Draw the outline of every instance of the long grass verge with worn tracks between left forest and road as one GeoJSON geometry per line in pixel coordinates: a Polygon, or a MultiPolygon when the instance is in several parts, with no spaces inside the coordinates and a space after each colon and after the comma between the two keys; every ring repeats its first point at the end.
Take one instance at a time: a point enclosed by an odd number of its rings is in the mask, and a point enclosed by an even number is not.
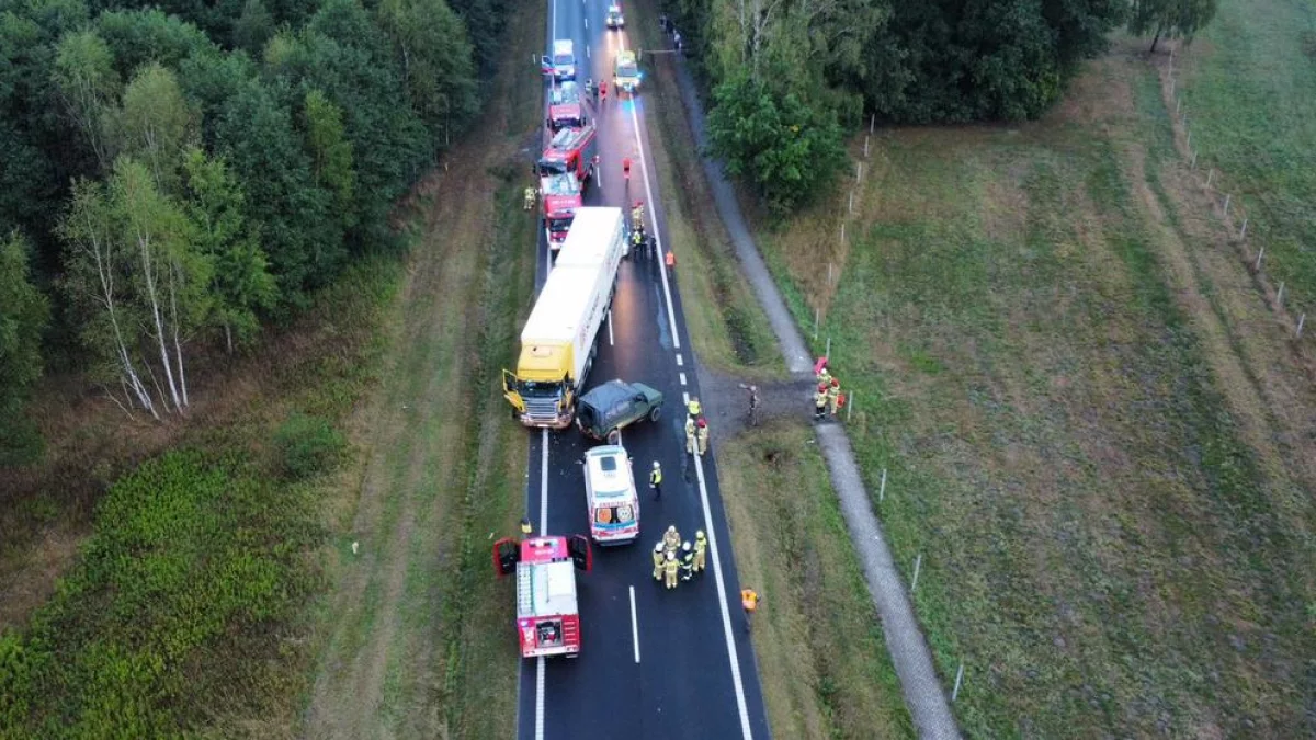
{"type": "MultiPolygon", "coordinates": [[[[537,45],[544,8],[508,43],[537,45]]],[[[517,55],[509,55],[519,58],[517,55]]],[[[508,63],[487,125],[413,194],[412,259],[388,327],[390,362],[353,421],[365,448],[332,524],[318,665],[303,732],[316,737],[511,737],[519,658],[512,585],[490,569],[494,533],[522,508],[525,431],[508,421],[501,367],[534,282],[534,216],[519,176],[537,141],[537,70],[508,63]]]]}

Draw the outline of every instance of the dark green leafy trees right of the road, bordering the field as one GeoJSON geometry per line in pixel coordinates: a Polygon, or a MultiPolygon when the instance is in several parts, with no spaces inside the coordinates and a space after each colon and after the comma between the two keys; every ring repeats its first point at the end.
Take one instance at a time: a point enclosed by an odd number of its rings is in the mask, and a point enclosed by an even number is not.
{"type": "Polygon", "coordinates": [[[1190,37],[1216,0],[665,0],[713,91],[729,170],[788,209],[844,161],[842,126],[1032,119],[1111,30],[1190,37]]]}

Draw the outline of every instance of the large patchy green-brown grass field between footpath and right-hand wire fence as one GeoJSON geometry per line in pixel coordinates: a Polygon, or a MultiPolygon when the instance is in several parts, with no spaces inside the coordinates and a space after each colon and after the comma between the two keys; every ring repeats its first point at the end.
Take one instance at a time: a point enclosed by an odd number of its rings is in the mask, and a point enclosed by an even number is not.
{"type": "Polygon", "coordinates": [[[824,312],[965,731],[1311,733],[1316,398],[1141,50],[1041,122],[874,145],[848,245],[830,204],[759,244],[799,323],[824,312]]]}

